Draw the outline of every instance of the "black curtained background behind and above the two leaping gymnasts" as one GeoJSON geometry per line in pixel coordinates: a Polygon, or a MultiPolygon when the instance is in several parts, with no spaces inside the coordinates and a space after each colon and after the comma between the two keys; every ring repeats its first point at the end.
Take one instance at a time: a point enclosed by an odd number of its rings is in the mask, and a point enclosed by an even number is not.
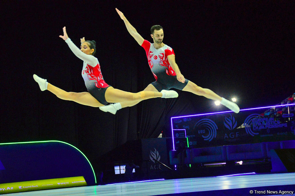
{"type": "Polygon", "coordinates": [[[177,99],[145,100],[116,115],[40,91],[36,73],[66,91],[83,92],[83,62],[58,36],[67,27],[97,42],[105,81],[138,92],[154,81],[145,51],[115,8],[152,42],[160,24],[164,43],[185,76],[241,109],[276,105],[294,90],[294,1],[1,1],[0,143],[60,140],[94,165],[128,140],[170,137],[172,116],[228,110],[178,91],[177,99]]]}

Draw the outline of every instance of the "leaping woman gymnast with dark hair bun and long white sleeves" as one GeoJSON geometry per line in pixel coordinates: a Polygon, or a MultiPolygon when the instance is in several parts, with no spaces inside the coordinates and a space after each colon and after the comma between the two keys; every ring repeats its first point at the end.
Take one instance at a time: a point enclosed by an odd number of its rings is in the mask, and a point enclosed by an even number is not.
{"type": "MultiPolygon", "coordinates": [[[[121,91],[108,85],[102,77],[99,61],[93,55],[96,52],[95,41],[85,41],[81,38],[81,49],[79,49],[68,37],[68,34],[63,27],[63,36],[59,36],[68,44],[71,51],[81,60],[83,60],[82,77],[88,92],[66,92],[52,84],[46,79],[33,75],[34,80],[39,84],[41,91],[48,90],[63,100],[71,100],[82,105],[92,107],[101,107],[108,103],[117,103],[124,101],[142,101],[150,98],[176,98],[176,91],[162,90],[161,92],[140,91],[138,93],[130,93],[121,91]]],[[[121,108],[118,108],[121,109],[121,108]]]]}

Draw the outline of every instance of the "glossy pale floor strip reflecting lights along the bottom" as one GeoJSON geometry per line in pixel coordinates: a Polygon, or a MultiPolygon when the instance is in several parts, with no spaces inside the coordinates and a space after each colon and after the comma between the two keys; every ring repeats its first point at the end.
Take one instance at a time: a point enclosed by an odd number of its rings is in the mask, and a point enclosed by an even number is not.
{"type": "Polygon", "coordinates": [[[199,177],[116,185],[72,187],[7,195],[161,195],[276,185],[295,185],[295,173],[199,177]]]}

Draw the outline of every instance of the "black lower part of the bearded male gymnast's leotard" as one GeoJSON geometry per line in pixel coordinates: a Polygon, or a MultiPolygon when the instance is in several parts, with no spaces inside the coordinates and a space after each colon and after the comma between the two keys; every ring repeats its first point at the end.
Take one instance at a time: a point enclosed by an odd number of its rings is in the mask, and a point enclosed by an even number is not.
{"type": "Polygon", "coordinates": [[[182,83],[177,80],[176,76],[167,75],[165,78],[158,78],[158,80],[152,82],[151,84],[160,92],[162,90],[169,90],[171,88],[182,90],[188,82],[188,79],[185,79],[185,83],[182,83]]]}

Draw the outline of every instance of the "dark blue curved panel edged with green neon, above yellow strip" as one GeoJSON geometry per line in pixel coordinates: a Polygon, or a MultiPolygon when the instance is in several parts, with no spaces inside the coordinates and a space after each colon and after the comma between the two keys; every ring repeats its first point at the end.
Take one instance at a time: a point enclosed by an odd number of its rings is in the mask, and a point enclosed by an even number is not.
{"type": "Polygon", "coordinates": [[[92,165],[76,147],[61,141],[0,143],[0,184],[83,176],[96,184],[92,165]]]}

